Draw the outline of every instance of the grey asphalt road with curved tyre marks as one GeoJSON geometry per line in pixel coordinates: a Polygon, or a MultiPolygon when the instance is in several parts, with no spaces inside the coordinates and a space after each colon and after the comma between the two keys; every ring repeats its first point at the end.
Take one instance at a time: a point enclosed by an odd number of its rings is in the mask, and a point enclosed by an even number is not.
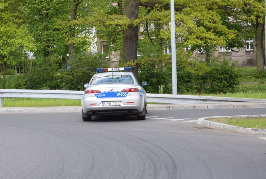
{"type": "Polygon", "coordinates": [[[197,125],[260,109],[148,111],[135,117],[0,113],[0,178],[266,178],[266,136],[197,125]]]}

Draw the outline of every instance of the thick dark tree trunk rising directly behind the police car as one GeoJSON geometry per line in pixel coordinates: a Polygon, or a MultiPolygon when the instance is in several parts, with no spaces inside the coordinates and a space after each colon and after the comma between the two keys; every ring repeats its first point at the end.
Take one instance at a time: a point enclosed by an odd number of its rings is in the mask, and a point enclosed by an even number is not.
{"type": "MultiPolygon", "coordinates": [[[[140,0],[125,0],[124,13],[126,17],[135,20],[139,15],[140,0]]],[[[123,60],[124,62],[135,62],[137,60],[137,46],[138,46],[138,25],[129,25],[123,31],[123,60]]],[[[132,68],[132,72],[138,77],[138,64],[132,68]]]]}

